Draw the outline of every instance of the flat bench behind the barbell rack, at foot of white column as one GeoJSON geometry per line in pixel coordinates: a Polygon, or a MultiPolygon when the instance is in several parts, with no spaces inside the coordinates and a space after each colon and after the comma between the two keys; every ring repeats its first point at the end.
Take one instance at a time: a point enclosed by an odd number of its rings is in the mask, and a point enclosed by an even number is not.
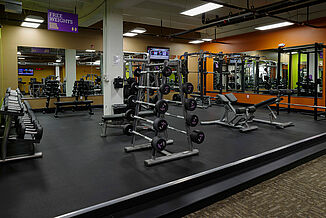
{"type": "MultiPolygon", "coordinates": [[[[139,112],[140,116],[152,116],[154,115],[153,111],[140,111],[139,112]]],[[[126,114],[125,113],[120,113],[120,114],[112,114],[112,115],[103,115],[102,116],[102,122],[100,125],[102,126],[101,130],[101,136],[105,137],[107,136],[106,130],[107,128],[119,128],[123,129],[125,126],[126,121],[126,114]]],[[[140,129],[145,129],[145,126],[140,126],[140,129]]],[[[149,129],[149,127],[146,127],[146,129],[149,129]]]]}

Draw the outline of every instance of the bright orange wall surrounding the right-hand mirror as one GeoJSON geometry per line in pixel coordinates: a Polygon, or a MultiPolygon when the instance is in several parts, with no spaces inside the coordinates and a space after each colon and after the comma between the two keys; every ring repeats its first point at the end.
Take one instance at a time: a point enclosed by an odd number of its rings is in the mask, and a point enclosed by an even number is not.
{"type": "MultiPolygon", "coordinates": [[[[318,19],[311,24],[322,26],[326,25],[326,18],[318,19]]],[[[291,26],[288,28],[282,28],[269,31],[255,31],[251,33],[241,34],[237,36],[231,36],[226,38],[217,39],[217,41],[224,42],[226,44],[219,43],[204,43],[201,45],[203,51],[209,52],[246,52],[265,49],[275,49],[280,43],[285,43],[286,47],[307,45],[318,43],[326,43],[326,28],[311,28],[306,26],[291,26]]],[[[324,50],[325,53],[325,50],[324,50]]],[[[324,55],[324,72],[325,71],[325,55],[324,55]]],[[[213,64],[211,60],[207,62],[207,70],[212,71],[213,64]]],[[[326,77],[323,78],[323,84],[326,85],[326,77]]],[[[318,105],[325,105],[325,85],[323,87],[323,98],[319,99],[318,105]]],[[[213,77],[207,76],[207,90],[213,90],[213,77]]],[[[214,96],[215,94],[209,94],[214,96]]],[[[256,95],[256,94],[240,94],[237,93],[240,103],[252,103],[256,104],[260,101],[270,98],[269,95],[256,95]],[[244,96],[249,95],[249,99],[244,96]]],[[[291,98],[292,103],[313,105],[312,98],[298,97],[291,98]]],[[[287,100],[286,100],[287,101],[287,100]]],[[[308,108],[303,108],[308,109],[308,108]]]]}

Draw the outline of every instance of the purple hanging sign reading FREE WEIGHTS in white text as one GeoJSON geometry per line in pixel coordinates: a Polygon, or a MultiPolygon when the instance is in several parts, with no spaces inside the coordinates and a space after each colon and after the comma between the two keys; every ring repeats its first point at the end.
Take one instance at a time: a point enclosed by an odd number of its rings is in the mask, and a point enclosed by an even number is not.
{"type": "Polygon", "coordinates": [[[78,33],[78,15],[48,10],[48,30],[78,33]]]}

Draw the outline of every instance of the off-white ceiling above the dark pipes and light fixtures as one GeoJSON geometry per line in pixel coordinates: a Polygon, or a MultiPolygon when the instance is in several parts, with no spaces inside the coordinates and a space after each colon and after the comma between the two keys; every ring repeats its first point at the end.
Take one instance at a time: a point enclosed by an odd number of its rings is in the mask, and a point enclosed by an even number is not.
{"type": "MultiPolygon", "coordinates": [[[[202,26],[201,15],[188,17],[180,12],[205,4],[200,0],[116,0],[119,7],[123,9],[124,21],[143,23],[150,25],[161,25],[176,29],[192,29],[202,26]]],[[[249,0],[250,5],[259,7],[280,0],[249,0]]],[[[223,0],[225,3],[247,7],[247,0],[223,0]]],[[[79,15],[80,26],[90,26],[102,20],[104,1],[103,0],[23,0],[23,8],[46,12],[48,8],[53,10],[74,12],[79,15]]],[[[239,12],[236,9],[227,7],[219,8],[207,13],[208,18],[216,15],[222,17],[229,13],[239,12]]],[[[325,3],[310,7],[310,19],[325,17],[325,3]]],[[[306,20],[306,9],[300,9],[285,14],[282,17],[291,18],[296,21],[306,20]]],[[[275,23],[275,18],[260,18],[253,21],[217,28],[217,38],[255,31],[254,27],[275,23]]],[[[201,31],[203,35],[214,37],[214,28],[201,31]]]]}

